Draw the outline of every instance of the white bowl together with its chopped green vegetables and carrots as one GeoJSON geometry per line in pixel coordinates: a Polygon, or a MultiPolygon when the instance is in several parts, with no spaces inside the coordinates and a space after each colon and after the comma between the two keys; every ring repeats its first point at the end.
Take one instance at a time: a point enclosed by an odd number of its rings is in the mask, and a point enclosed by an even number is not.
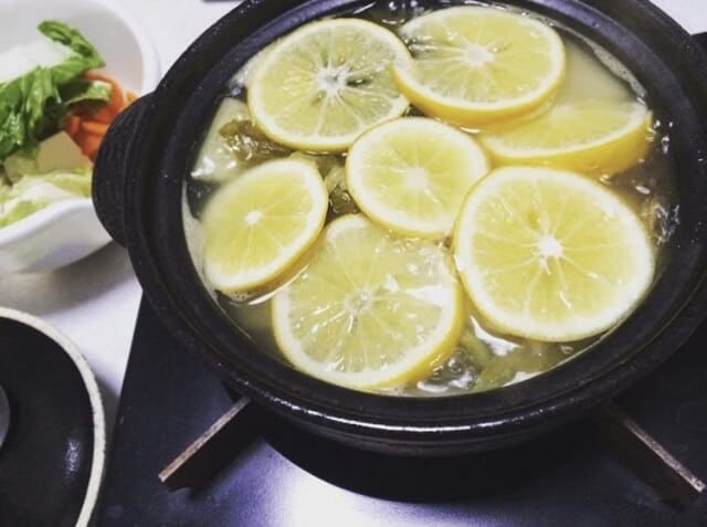
{"type": "Polygon", "coordinates": [[[113,8],[48,14],[0,39],[0,273],[51,271],[110,241],[93,161],[113,119],[158,80],[154,51],[113,8]]]}

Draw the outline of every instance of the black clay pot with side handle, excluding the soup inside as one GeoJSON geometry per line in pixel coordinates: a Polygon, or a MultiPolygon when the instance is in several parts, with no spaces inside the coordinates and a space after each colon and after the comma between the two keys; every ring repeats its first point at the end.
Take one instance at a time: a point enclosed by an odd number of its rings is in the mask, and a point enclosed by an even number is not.
{"type": "MultiPolygon", "coordinates": [[[[203,130],[228,80],[265,44],[306,21],[365,0],[251,0],[209,29],[158,88],[110,127],[94,198],[124,243],[168,329],[232,388],[294,423],[356,447],[405,455],[496,449],[582,415],[657,367],[707,305],[707,56],[646,0],[508,0],[610,50],[669,116],[680,224],[648,297],[591,350],[535,379],[449,398],[359,393],[302,375],[254,349],[202,286],[189,256],[181,200],[203,130]]],[[[434,4],[435,2],[430,2],[434,4]]]]}

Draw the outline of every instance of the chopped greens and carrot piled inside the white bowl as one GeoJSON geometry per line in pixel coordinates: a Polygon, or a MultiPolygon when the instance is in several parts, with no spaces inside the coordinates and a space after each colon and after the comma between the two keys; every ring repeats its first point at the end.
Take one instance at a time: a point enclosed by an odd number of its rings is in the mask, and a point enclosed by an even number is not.
{"type": "Polygon", "coordinates": [[[126,98],[75,29],[39,25],[44,39],[0,55],[0,228],[73,197],[91,196],[92,159],[126,98]]]}

